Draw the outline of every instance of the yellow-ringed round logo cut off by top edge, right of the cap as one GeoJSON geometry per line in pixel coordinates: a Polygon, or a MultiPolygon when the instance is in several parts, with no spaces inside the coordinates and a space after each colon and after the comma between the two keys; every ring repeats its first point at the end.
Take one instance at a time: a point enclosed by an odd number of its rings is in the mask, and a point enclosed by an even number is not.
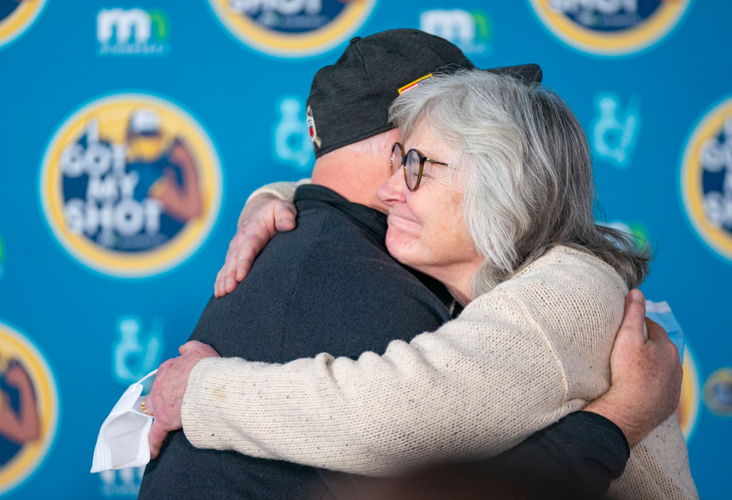
{"type": "Polygon", "coordinates": [[[665,37],[690,0],[531,0],[539,19],[574,48],[600,56],[638,52],[665,37]]]}

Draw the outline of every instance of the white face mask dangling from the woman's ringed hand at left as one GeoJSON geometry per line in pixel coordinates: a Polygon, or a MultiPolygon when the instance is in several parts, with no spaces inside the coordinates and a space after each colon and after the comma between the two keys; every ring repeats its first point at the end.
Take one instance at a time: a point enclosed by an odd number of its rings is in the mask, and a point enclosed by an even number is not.
{"type": "Polygon", "coordinates": [[[152,427],[152,417],[142,411],[141,403],[146,396],[141,394],[142,382],[156,373],[157,370],[151,371],[127,387],[102,423],[91,461],[92,472],[138,467],[150,461],[147,435],[152,427]]]}

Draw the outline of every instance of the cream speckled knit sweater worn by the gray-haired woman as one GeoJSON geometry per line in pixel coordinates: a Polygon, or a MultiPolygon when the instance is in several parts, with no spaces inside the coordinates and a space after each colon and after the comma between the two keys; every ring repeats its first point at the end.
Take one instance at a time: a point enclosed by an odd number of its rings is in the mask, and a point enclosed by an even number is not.
{"type": "MultiPolygon", "coordinates": [[[[384,355],[201,360],[184,432],[196,447],[375,476],[496,455],[608,390],[626,294],[605,262],[557,247],[384,355]]],[[[632,449],[610,496],[698,498],[675,415],[632,449]]]]}

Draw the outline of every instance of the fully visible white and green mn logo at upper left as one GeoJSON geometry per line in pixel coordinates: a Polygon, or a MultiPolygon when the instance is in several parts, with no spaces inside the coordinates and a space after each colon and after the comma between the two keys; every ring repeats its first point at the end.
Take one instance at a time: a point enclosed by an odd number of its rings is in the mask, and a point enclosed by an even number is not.
{"type": "Polygon", "coordinates": [[[168,23],[159,11],[102,9],[97,14],[100,54],[156,54],[167,48],[168,23]]]}

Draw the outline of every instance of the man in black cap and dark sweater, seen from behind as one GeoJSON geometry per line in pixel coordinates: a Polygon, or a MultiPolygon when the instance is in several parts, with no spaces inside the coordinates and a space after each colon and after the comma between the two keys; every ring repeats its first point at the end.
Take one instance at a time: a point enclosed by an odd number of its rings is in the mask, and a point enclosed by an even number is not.
{"type": "MultiPolygon", "coordinates": [[[[209,300],[192,340],[224,357],[266,363],[320,352],[355,358],[384,352],[389,341],[409,341],[450,319],[447,290],[387,254],[386,216],[376,189],[389,175],[390,146],[397,140],[387,117],[392,100],[432,72],[459,67],[473,66],[444,39],[390,30],[351,40],[334,65],[318,71],[307,101],[316,162],[313,183],[294,196],[296,230],[275,235],[242,284],[209,300]]],[[[529,81],[541,77],[535,65],[493,71],[529,81]]],[[[186,379],[187,374],[183,384],[186,379]]],[[[162,390],[156,382],[153,392],[162,390]]],[[[149,401],[160,400],[151,395],[149,401]]],[[[155,413],[156,406],[148,408],[155,413]]],[[[160,422],[151,436],[167,430],[160,422]]],[[[616,425],[581,412],[506,456],[510,464],[529,460],[552,472],[563,470],[577,485],[596,482],[591,488],[602,492],[621,473],[628,448],[616,425]]],[[[197,449],[174,431],[147,467],[140,497],[354,498],[349,484],[354,483],[322,469],[197,449]]]]}

